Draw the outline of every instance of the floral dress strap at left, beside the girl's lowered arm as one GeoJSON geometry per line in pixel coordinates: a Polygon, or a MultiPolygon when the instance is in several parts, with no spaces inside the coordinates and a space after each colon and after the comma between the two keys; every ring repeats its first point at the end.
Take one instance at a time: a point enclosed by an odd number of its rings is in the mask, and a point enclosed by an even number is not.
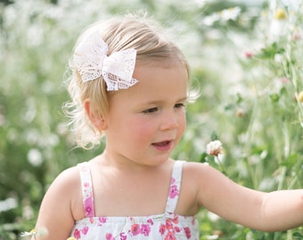
{"type": "Polygon", "coordinates": [[[83,205],[86,218],[92,218],[94,217],[94,191],[89,165],[85,162],[78,164],[77,166],[80,172],[83,205]]]}

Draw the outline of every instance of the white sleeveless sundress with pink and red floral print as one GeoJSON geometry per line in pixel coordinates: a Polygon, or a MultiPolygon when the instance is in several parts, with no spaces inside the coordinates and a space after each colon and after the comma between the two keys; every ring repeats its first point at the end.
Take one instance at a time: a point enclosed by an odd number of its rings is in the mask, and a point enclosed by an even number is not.
{"type": "Polygon", "coordinates": [[[70,236],[86,240],[199,239],[194,216],[175,213],[184,161],[176,161],[171,176],[164,213],[137,217],[98,217],[94,215],[94,193],[87,163],[78,164],[86,217],[77,220],[70,236]]]}

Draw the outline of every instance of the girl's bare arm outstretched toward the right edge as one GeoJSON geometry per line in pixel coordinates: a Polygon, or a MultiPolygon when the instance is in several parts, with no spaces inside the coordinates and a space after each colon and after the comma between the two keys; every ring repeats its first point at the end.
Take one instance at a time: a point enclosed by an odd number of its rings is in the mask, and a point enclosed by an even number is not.
{"type": "Polygon", "coordinates": [[[262,231],[303,225],[303,189],[259,192],[234,183],[206,164],[190,164],[189,172],[198,184],[198,203],[225,220],[262,231]]]}

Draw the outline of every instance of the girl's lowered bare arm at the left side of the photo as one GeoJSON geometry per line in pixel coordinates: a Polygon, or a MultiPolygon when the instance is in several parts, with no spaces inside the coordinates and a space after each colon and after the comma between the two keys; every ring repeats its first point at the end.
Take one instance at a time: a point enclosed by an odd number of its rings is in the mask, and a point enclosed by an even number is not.
{"type": "MultiPolygon", "coordinates": [[[[72,207],[78,205],[80,180],[76,168],[71,168],[53,181],[42,201],[36,230],[45,228],[47,235],[37,235],[35,240],[66,240],[75,224],[72,207]]],[[[81,205],[81,204],[80,204],[81,205]]]]}

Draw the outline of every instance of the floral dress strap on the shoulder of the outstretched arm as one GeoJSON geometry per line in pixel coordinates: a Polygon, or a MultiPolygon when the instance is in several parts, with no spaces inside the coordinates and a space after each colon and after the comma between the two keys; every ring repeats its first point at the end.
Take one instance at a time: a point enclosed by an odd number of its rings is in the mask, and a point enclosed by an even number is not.
{"type": "Polygon", "coordinates": [[[184,161],[176,161],[174,164],[168,192],[168,201],[165,209],[165,214],[169,218],[173,218],[175,215],[176,204],[178,202],[181,187],[183,164],[184,161]]]}

